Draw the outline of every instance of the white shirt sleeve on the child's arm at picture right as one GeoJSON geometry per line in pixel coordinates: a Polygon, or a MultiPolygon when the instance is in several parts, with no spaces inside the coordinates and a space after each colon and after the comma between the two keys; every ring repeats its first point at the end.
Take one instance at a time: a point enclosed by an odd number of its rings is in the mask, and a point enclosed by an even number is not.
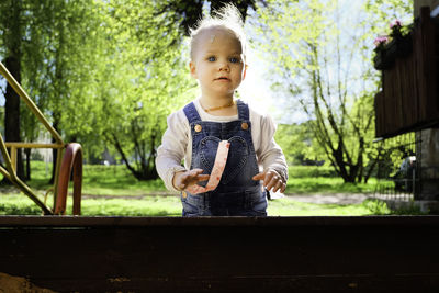
{"type": "Polygon", "coordinates": [[[277,126],[270,115],[261,117],[260,127],[260,154],[258,156],[259,164],[263,170],[273,169],[277,171],[284,182],[288,180],[288,165],[282,148],[274,140],[277,126]]]}

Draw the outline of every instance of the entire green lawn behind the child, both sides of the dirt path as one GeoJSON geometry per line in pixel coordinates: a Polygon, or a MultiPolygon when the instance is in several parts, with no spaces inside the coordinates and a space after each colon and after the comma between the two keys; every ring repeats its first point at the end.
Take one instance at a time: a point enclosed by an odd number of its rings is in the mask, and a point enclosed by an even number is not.
{"type": "MultiPolygon", "coordinates": [[[[32,180],[29,182],[44,200],[49,188],[48,171],[44,162],[32,164],[32,180]]],[[[286,193],[371,193],[374,181],[369,184],[344,184],[334,178],[329,168],[293,167],[286,193]]],[[[137,181],[124,166],[90,166],[83,168],[82,215],[125,215],[125,216],[179,216],[181,203],[178,195],[166,191],[161,180],[137,181]]],[[[1,215],[38,215],[40,209],[15,189],[2,189],[0,196],[1,215]]],[[[53,198],[46,199],[47,203],[53,198]]],[[[71,196],[67,213],[71,213],[71,196]]],[[[329,216],[329,215],[374,215],[390,214],[391,211],[380,201],[368,200],[361,204],[314,204],[297,202],[289,196],[269,202],[271,216],[329,216]]]]}

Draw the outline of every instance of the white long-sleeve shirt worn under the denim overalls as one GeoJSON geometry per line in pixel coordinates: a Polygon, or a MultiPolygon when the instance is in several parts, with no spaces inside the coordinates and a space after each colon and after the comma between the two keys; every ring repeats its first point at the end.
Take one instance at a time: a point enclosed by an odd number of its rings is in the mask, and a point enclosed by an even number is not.
{"type": "MultiPolygon", "coordinates": [[[[238,120],[238,115],[215,116],[206,113],[200,105],[200,99],[193,101],[202,121],[230,122],[238,120]]],[[[286,182],[288,166],[282,149],[274,142],[275,124],[270,115],[256,112],[249,106],[251,123],[251,138],[259,166],[275,170],[286,182]]],[[[157,149],[157,172],[170,191],[177,191],[172,184],[173,174],[181,170],[189,170],[192,159],[192,135],[189,121],[183,109],[168,116],[161,145],[157,149]],[[184,167],[181,161],[184,158],[184,167]]]]}

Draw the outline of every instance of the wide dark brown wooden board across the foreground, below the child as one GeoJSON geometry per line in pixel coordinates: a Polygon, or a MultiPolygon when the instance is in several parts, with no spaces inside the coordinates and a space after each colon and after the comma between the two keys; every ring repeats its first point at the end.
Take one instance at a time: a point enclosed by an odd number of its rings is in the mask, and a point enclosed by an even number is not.
{"type": "Polygon", "coordinates": [[[0,271],[59,292],[439,290],[439,217],[0,217],[0,271]]]}

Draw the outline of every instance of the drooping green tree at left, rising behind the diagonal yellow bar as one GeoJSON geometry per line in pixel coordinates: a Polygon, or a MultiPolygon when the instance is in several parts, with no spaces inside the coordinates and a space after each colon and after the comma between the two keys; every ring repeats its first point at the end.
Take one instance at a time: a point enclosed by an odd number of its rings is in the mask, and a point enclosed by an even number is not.
{"type": "MultiPolygon", "coordinates": [[[[87,113],[81,89],[92,77],[93,33],[98,27],[93,14],[97,5],[90,1],[31,1],[27,22],[29,58],[25,66],[26,82],[31,97],[49,117],[52,125],[67,142],[76,140],[78,113],[87,113]]],[[[29,117],[27,139],[32,135],[33,119],[29,117]]],[[[58,151],[53,150],[54,181],[58,151]]]]}

